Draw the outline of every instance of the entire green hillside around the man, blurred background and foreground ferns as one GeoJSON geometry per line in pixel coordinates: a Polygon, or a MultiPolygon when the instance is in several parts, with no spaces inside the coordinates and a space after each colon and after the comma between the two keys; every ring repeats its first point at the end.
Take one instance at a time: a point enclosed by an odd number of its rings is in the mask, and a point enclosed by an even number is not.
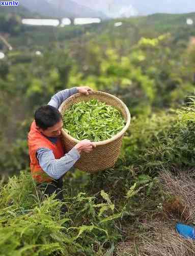
{"type": "Polygon", "coordinates": [[[195,221],[195,13],[65,27],[0,18],[13,46],[0,43],[0,254],[194,256],[175,224],[195,221]],[[112,168],[68,170],[62,203],[32,180],[26,138],[39,106],[81,84],[121,99],[131,124],[112,168]]]}

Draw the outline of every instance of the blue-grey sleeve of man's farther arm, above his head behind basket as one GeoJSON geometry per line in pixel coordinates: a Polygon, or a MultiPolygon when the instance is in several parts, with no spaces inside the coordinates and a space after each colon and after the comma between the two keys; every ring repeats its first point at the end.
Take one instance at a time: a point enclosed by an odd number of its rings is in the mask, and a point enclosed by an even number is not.
{"type": "Polygon", "coordinates": [[[60,91],[59,93],[57,93],[57,94],[53,95],[53,97],[51,97],[51,100],[49,101],[48,105],[59,108],[60,105],[63,103],[63,101],[65,101],[71,95],[73,95],[77,92],[78,92],[77,87],[73,87],[71,89],[66,89],[66,90],[60,91]]]}

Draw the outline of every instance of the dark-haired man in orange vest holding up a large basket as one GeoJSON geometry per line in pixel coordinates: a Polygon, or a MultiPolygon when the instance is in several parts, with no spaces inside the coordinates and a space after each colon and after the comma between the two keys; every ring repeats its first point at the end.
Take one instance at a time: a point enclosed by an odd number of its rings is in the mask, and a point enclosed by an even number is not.
{"type": "MultiPolygon", "coordinates": [[[[75,87],[55,94],[47,105],[35,112],[35,120],[28,135],[31,173],[38,186],[45,186],[45,194],[57,193],[63,202],[63,176],[80,158],[80,153],[90,152],[95,146],[88,139],[81,140],[68,153],[64,153],[60,138],[63,121],[58,108],[64,100],[75,93],[89,95],[89,87],[75,87]],[[39,185],[40,184],[40,185],[39,185]]],[[[66,212],[66,207],[61,209],[66,212]]]]}

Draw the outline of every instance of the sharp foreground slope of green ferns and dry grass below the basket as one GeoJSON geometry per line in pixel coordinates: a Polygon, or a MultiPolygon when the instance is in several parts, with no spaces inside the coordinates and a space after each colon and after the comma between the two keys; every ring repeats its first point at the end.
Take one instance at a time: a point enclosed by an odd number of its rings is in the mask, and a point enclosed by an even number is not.
{"type": "Polygon", "coordinates": [[[195,221],[194,107],[192,99],[179,111],[133,120],[113,168],[69,172],[63,218],[61,203],[44,198],[30,174],[2,184],[3,254],[194,255],[194,242],[175,232],[175,223],[195,221]]]}

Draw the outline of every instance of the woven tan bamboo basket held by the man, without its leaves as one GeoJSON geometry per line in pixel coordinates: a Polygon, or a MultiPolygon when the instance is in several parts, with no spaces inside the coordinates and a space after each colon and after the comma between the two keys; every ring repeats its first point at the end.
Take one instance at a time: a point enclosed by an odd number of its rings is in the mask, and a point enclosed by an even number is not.
{"type": "MultiPolygon", "coordinates": [[[[98,99],[101,102],[105,102],[107,105],[112,105],[118,108],[123,117],[126,120],[125,127],[112,138],[95,142],[96,148],[90,153],[81,152],[80,159],[75,163],[75,167],[85,172],[95,173],[99,170],[105,170],[113,167],[116,163],[122,146],[123,136],[130,125],[130,113],[127,106],[116,96],[100,91],[92,91],[90,94],[74,94],[66,99],[59,108],[59,111],[63,115],[71,105],[80,101],[89,101],[91,99],[98,99]]],[[[65,152],[70,151],[78,142],[78,139],[70,136],[64,129],[62,129],[62,140],[65,148],[65,152]]]]}

